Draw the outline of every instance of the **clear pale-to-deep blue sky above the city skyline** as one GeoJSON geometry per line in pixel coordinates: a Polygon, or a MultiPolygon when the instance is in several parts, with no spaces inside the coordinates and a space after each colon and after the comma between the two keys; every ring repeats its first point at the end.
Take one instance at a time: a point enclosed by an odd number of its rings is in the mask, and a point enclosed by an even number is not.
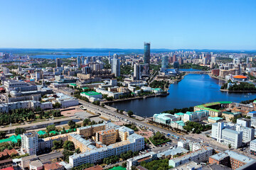
{"type": "Polygon", "coordinates": [[[255,0],[0,0],[0,48],[256,50],[255,0]]]}

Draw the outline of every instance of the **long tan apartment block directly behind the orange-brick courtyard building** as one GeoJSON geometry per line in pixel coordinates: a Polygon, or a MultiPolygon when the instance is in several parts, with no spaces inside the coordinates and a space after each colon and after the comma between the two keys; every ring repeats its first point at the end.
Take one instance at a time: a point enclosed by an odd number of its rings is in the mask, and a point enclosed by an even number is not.
{"type": "Polygon", "coordinates": [[[82,135],[83,137],[90,137],[96,134],[96,132],[105,130],[106,129],[106,124],[101,123],[97,125],[91,125],[91,126],[85,126],[82,128],[78,128],[78,134],[82,135]]]}

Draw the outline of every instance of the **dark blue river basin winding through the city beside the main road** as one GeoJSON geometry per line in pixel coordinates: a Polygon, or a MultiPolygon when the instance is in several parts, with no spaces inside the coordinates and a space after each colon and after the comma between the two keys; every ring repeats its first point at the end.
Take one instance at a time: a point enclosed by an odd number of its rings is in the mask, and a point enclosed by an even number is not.
{"type": "Polygon", "coordinates": [[[133,101],[110,103],[110,106],[124,111],[133,111],[137,115],[151,117],[154,113],[186,108],[213,101],[245,101],[256,98],[256,94],[235,94],[221,92],[225,82],[214,79],[208,74],[188,74],[183,80],[169,87],[169,96],[152,97],[133,101]]]}

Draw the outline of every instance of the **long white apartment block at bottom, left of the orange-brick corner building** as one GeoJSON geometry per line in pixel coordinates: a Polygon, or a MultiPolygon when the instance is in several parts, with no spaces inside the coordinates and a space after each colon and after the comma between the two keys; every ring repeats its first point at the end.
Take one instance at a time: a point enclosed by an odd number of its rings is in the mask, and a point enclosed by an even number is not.
{"type": "Polygon", "coordinates": [[[197,150],[196,152],[192,152],[190,154],[185,154],[181,157],[177,157],[175,159],[170,159],[169,160],[169,166],[180,166],[182,164],[186,164],[188,162],[196,162],[196,163],[201,163],[201,162],[208,162],[209,157],[213,155],[213,148],[211,147],[205,147],[202,149],[197,150]]]}

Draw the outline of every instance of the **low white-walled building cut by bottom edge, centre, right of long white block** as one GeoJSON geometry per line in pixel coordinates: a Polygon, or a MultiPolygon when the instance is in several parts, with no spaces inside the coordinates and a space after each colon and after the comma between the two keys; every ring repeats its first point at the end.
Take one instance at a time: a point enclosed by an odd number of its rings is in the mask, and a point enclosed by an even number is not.
{"type": "Polygon", "coordinates": [[[131,170],[132,166],[138,166],[141,162],[151,162],[155,159],[157,159],[157,154],[155,152],[148,152],[137,157],[132,157],[127,159],[127,170],[131,170]]]}

